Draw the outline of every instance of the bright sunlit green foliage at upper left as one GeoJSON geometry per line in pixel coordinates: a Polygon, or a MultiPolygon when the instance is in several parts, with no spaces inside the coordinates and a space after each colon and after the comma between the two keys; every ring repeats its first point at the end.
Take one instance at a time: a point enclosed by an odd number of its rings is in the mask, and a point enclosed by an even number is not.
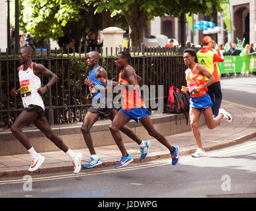
{"type": "Polygon", "coordinates": [[[22,0],[21,25],[24,31],[34,34],[36,40],[64,36],[63,27],[68,22],[77,22],[85,26],[82,15],[87,14],[85,1],[79,0],[22,0]]]}

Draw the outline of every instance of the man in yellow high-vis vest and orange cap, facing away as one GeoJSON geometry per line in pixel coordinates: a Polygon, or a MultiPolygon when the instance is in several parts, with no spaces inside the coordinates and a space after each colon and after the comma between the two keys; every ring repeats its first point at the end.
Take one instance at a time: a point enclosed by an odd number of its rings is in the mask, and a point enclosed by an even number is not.
{"type": "MultiPolygon", "coordinates": [[[[220,88],[220,70],[218,69],[216,62],[223,62],[224,57],[222,53],[220,53],[220,49],[216,47],[216,53],[212,51],[214,47],[215,41],[212,40],[210,36],[205,36],[202,39],[202,49],[196,53],[196,57],[198,59],[198,63],[204,65],[210,73],[215,78],[215,81],[212,85],[208,86],[207,94],[210,96],[213,106],[212,106],[212,115],[213,117],[218,116],[220,104],[222,103],[222,90],[220,88]]],[[[208,78],[205,78],[208,80],[208,78]]]]}

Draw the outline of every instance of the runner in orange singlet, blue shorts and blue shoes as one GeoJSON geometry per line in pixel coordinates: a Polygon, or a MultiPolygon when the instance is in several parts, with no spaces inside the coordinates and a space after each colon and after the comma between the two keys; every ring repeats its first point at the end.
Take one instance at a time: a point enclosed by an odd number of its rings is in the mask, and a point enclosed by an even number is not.
{"type": "MultiPolygon", "coordinates": [[[[155,131],[153,123],[149,117],[149,111],[146,109],[142,98],[140,97],[140,90],[138,88],[138,81],[136,73],[132,66],[129,65],[131,55],[128,52],[121,51],[116,55],[116,67],[122,70],[119,73],[119,82],[112,81],[112,86],[118,86],[122,91],[122,106],[123,108],[118,111],[114,117],[109,129],[116,143],[122,143],[122,136],[118,131],[120,128],[128,123],[130,119],[140,123],[148,131],[149,135],[156,138],[161,144],[166,146],[171,153],[172,164],[175,165],[179,162],[179,146],[171,146],[165,136],[155,131]]],[[[128,155],[125,148],[122,150],[122,158],[116,167],[123,167],[132,162],[132,157],[128,155]]]]}

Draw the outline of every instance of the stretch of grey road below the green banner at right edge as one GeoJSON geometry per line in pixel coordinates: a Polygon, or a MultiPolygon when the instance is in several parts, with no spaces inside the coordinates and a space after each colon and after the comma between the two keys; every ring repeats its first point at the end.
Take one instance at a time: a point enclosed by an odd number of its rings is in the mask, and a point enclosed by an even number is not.
{"type": "Polygon", "coordinates": [[[256,76],[220,80],[222,99],[256,108],[256,76]]]}

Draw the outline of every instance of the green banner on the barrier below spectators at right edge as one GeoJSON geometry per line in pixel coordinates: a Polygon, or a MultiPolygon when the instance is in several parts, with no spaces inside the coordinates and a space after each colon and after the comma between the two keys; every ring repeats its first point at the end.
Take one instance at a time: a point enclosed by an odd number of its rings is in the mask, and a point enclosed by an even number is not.
{"type": "Polygon", "coordinates": [[[256,56],[226,55],[224,62],[218,62],[220,74],[256,72],[256,56]]]}

